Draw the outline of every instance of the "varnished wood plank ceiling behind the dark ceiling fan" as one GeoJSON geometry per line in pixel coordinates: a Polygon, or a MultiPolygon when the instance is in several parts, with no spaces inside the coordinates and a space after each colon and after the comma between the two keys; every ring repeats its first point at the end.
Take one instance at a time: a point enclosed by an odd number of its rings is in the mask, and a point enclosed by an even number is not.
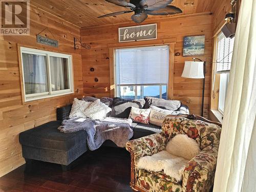
{"type": "MultiPolygon", "coordinates": [[[[171,5],[182,9],[181,14],[210,12],[214,0],[174,0],[171,5]]],[[[97,18],[100,15],[129,10],[104,0],[31,0],[30,4],[56,15],[78,27],[130,22],[133,13],[97,18]]],[[[151,16],[147,19],[169,17],[151,16]]]]}

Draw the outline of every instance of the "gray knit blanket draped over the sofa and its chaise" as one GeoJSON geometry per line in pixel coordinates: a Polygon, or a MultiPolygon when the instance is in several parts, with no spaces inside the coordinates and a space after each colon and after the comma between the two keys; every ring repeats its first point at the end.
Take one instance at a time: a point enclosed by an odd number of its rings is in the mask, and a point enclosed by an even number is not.
{"type": "Polygon", "coordinates": [[[112,140],[117,146],[125,147],[126,142],[133,137],[129,123],[73,118],[63,120],[61,124],[58,130],[62,133],[86,131],[87,144],[91,151],[97,150],[105,140],[112,140]]]}

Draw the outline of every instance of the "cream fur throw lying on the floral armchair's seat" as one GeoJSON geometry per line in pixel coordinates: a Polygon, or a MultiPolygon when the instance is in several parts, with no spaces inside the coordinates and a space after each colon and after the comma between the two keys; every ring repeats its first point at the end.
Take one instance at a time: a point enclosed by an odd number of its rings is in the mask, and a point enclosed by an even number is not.
{"type": "Polygon", "coordinates": [[[140,158],[138,168],[152,172],[161,172],[163,170],[166,175],[181,181],[184,168],[188,162],[189,160],[182,157],[161,151],[152,156],[140,158]]]}

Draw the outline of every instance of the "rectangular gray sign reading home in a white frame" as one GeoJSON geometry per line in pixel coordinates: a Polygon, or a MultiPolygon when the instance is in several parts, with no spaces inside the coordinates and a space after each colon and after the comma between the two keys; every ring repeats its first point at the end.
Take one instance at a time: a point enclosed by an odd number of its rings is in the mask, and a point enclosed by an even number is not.
{"type": "Polygon", "coordinates": [[[118,36],[119,42],[157,39],[157,24],[122,27],[118,36]]]}

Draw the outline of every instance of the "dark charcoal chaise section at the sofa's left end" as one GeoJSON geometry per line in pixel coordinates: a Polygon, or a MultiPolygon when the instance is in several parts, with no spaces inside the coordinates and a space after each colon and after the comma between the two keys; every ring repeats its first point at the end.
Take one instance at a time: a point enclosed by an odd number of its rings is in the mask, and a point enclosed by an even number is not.
{"type": "MultiPolygon", "coordinates": [[[[57,113],[58,119],[61,119],[59,116],[66,118],[65,109],[67,107],[57,113]]],[[[31,159],[40,160],[61,164],[66,169],[66,165],[88,150],[86,131],[64,134],[57,130],[60,125],[61,120],[50,121],[19,134],[26,163],[31,159]]]]}

